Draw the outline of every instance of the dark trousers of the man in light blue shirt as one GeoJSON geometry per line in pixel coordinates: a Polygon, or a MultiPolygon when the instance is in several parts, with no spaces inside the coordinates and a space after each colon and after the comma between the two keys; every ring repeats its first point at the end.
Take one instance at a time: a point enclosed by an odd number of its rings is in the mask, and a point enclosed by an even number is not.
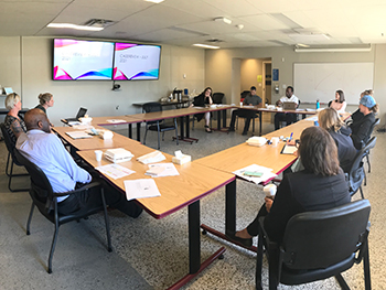
{"type": "MultiPolygon", "coordinates": [[[[98,180],[105,189],[106,204],[119,210],[124,214],[131,217],[138,217],[142,213],[142,208],[133,201],[127,201],[124,193],[118,192],[108,185],[105,181],[98,180]]],[[[58,212],[68,215],[77,211],[87,211],[101,206],[103,201],[99,187],[93,187],[88,191],[78,192],[69,195],[66,200],[57,204],[58,212]]]]}

